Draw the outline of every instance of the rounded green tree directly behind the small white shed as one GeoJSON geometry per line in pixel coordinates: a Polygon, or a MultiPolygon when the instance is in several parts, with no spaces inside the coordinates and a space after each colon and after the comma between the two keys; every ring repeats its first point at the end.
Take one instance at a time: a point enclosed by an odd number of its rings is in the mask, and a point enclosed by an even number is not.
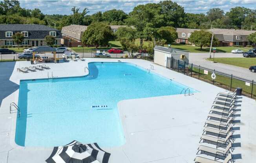
{"type": "Polygon", "coordinates": [[[178,38],[178,34],[176,32],[176,29],[174,27],[160,27],[157,30],[157,33],[159,35],[159,39],[166,40],[166,43],[172,43],[178,38]]]}

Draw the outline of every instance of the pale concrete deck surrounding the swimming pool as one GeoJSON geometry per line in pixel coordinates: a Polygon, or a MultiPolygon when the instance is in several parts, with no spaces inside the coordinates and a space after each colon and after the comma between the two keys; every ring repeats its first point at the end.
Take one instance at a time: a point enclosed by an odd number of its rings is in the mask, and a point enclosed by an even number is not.
{"type": "MultiPolygon", "coordinates": [[[[46,63],[51,69],[37,72],[17,72],[17,68],[31,66],[20,61],[13,65],[13,72],[1,69],[9,77],[8,87],[1,87],[5,95],[0,106],[0,163],[44,163],[53,148],[20,147],[15,144],[16,113],[9,113],[11,102],[18,103],[18,89],[22,79],[69,77],[88,74],[88,62],[130,62],[148,68],[152,62],[138,59],[98,59],[69,63],[46,63]]],[[[9,63],[0,63],[6,67],[9,63]]],[[[110,152],[110,163],[193,163],[203,125],[216,94],[225,91],[214,85],[190,78],[178,72],[155,65],[154,71],[176,82],[196,89],[192,96],[184,94],[124,100],[118,103],[126,143],[120,147],[103,148],[110,152]]],[[[7,77],[2,80],[7,80],[7,77]]],[[[2,94],[2,93],[1,93],[2,94]]],[[[241,96],[234,125],[237,147],[232,152],[236,163],[253,163],[256,153],[256,102],[241,96]],[[241,147],[239,147],[241,146],[241,147]]],[[[79,141],[79,140],[77,140],[79,141]]],[[[69,142],[67,142],[69,143],[69,142]]],[[[203,155],[202,155],[203,156],[203,155]]]]}

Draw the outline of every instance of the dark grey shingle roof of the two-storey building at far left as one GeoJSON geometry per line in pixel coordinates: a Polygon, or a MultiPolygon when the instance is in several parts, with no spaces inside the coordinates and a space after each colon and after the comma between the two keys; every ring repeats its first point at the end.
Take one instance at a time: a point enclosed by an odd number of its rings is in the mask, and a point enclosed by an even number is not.
{"type": "Polygon", "coordinates": [[[59,31],[39,24],[0,24],[0,31],[59,31]]]}

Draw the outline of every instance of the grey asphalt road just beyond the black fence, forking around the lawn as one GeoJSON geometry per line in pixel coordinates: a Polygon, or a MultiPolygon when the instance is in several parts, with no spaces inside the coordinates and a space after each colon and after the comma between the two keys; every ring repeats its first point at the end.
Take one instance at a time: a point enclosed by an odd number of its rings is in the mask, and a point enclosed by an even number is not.
{"type": "MultiPolygon", "coordinates": [[[[213,57],[213,54],[212,54],[213,57]]],[[[236,67],[232,65],[226,65],[222,63],[213,63],[205,60],[209,58],[209,53],[190,53],[189,62],[207,67],[209,69],[216,69],[225,73],[233,74],[235,76],[240,76],[242,78],[247,78],[256,81],[256,73],[249,71],[248,69],[236,67]]],[[[242,54],[232,54],[232,53],[216,53],[215,58],[243,58],[242,54]]]]}

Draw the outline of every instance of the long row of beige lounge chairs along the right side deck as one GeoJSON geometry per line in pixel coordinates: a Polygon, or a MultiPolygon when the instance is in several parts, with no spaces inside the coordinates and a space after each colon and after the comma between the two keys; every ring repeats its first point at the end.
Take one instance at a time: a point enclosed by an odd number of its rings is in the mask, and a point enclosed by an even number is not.
{"type": "Polygon", "coordinates": [[[196,156],[195,163],[229,163],[234,162],[232,153],[234,147],[233,126],[235,118],[235,108],[237,95],[235,92],[219,92],[212,104],[204,125],[203,134],[199,143],[208,143],[199,145],[198,154],[206,154],[209,157],[196,156]],[[216,145],[210,146],[209,144],[216,145]],[[223,161],[220,161],[222,159],[223,161]]]}

